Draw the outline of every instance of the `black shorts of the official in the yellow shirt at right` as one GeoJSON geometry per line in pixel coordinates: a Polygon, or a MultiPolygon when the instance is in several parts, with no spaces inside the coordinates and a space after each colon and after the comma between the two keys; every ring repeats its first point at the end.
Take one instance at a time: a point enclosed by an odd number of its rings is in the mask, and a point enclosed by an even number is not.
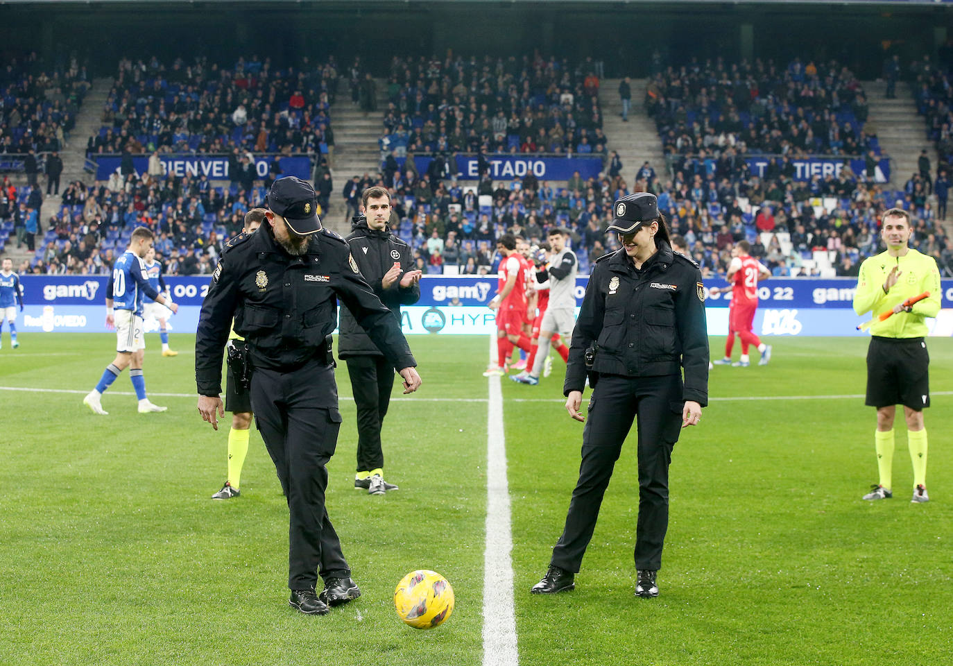
{"type": "Polygon", "coordinates": [[[867,348],[867,399],[870,407],[930,406],[930,354],[922,337],[870,338],[867,348]]]}

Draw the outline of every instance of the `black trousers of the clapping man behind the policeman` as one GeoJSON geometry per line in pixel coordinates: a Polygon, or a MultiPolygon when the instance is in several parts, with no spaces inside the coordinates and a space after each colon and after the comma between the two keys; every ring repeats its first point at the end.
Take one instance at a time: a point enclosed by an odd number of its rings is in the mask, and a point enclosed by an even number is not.
{"type": "Polygon", "coordinates": [[[380,429],[391,404],[394,366],[383,356],[348,358],[348,374],[357,407],[357,472],[384,467],[380,429]]]}

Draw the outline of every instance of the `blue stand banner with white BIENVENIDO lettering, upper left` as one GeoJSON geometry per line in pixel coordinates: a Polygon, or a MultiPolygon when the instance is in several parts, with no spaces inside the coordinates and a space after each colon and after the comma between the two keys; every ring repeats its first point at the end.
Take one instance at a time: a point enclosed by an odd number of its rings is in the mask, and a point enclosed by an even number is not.
{"type": "MultiPolygon", "coordinates": [[[[122,163],[122,157],[119,155],[92,155],[91,159],[96,163],[96,179],[109,180],[112,172],[119,170],[122,163]]],[[[176,155],[159,154],[159,160],[166,174],[172,174],[178,177],[190,176],[198,178],[206,176],[209,180],[230,180],[232,174],[229,172],[228,155],[176,155]]],[[[254,170],[258,179],[268,177],[268,172],[272,168],[272,163],[277,160],[281,169],[281,175],[294,175],[302,180],[311,180],[312,161],[308,156],[297,157],[278,157],[277,155],[254,155],[254,170]]],[[[132,168],[136,173],[144,173],[149,170],[149,155],[136,156],[132,158],[132,168]]]]}

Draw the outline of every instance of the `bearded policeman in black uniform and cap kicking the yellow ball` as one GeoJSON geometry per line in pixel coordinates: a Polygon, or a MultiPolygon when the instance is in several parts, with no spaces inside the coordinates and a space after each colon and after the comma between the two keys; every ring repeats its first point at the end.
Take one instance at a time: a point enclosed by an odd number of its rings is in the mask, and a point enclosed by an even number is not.
{"type": "Polygon", "coordinates": [[[290,604],[323,615],[360,595],[324,505],[325,468],[335,453],[337,411],[331,333],[336,299],[404,379],[420,386],[416,362],[391,313],[361,278],[347,242],[322,230],[314,189],[294,176],[274,181],[268,224],[229,243],[202,304],[195,339],[198,411],[217,430],[224,416],[222,351],[234,317],[245,336],[258,430],[274,460],[291,514],[290,604]],[[324,591],[315,595],[317,575],[324,591]]]}

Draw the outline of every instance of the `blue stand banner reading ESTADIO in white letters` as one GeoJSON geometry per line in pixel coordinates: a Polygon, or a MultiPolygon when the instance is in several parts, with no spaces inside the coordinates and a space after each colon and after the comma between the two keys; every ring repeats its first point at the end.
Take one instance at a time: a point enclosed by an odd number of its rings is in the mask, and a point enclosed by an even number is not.
{"type": "MultiPolygon", "coordinates": [[[[398,157],[397,164],[403,167],[405,157],[398,157]]],[[[476,155],[456,154],[456,175],[461,180],[479,180],[479,160],[476,155]]],[[[490,177],[494,180],[522,179],[532,173],[539,180],[569,180],[573,172],[579,172],[584,180],[597,178],[602,171],[600,157],[558,157],[554,155],[491,154],[486,156],[490,164],[490,177]]],[[[433,157],[414,157],[414,166],[418,173],[426,173],[433,157]]]]}

